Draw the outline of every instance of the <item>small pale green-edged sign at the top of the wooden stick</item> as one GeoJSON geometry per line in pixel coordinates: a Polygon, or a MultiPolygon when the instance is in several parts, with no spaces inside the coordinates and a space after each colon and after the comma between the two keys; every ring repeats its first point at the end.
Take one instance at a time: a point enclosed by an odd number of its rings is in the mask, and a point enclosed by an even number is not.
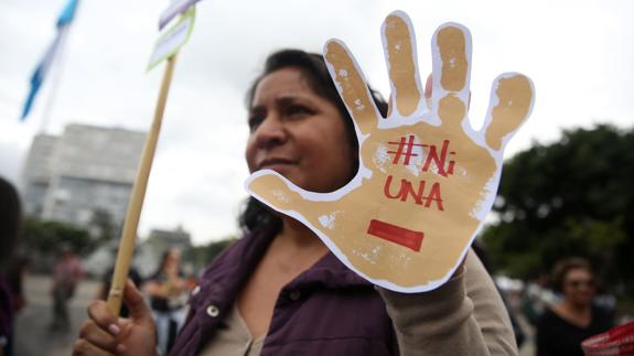
{"type": "Polygon", "coordinates": [[[196,9],[190,8],[187,12],[183,13],[179,22],[161,34],[154,44],[154,50],[152,51],[152,56],[148,64],[148,71],[151,71],[157,66],[157,64],[174,55],[185,43],[187,43],[187,40],[190,40],[190,35],[192,34],[192,30],[194,29],[195,14],[196,9]]]}

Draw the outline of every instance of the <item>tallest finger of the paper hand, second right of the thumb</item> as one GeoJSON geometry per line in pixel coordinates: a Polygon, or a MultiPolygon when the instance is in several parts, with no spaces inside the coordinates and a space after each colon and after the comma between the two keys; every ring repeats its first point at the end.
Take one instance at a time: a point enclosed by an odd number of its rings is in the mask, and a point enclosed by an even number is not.
{"type": "Polygon", "coordinates": [[[396,109],[401,116],[410,116],[421,99],[416,36],[411,21],[405,12],[395,11],[385,19],[382,33],[396,109]]]}

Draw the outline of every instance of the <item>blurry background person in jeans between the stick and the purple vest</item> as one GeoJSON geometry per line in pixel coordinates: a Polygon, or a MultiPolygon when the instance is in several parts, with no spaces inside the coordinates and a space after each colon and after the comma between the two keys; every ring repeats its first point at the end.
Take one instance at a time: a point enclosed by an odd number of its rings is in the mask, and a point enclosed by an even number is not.
{"type": "Polygon", "coordinates": [[[148,279],[144,290],[157,322],[158,348],[166,355],[186,315],[189,289],[181,270],[180,249],[171,248],[163,253],[159,269],[148,279]]]}

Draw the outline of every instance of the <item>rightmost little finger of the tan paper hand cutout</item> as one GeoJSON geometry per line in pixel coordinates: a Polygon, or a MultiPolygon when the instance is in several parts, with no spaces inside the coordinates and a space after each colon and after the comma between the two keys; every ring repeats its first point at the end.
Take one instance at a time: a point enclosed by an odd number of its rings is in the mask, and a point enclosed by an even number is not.
{"type": "Polygon", "coordinates": [[[486,144],[499,151],[533,109],[533,82],[522,74],[506,73],[493,82],[488,115],[484,123],[486,144]],[[493,106],[493,107],[492,107],[493,106]]]}

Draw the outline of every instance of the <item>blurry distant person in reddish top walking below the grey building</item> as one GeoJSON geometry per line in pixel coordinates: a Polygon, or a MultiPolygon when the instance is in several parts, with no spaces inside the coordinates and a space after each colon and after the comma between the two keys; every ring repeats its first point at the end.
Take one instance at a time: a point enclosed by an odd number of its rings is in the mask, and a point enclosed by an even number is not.
{"type": "Polygon", "coordinates": [[[71,315],[68,302],[75,295],[75,289],[84,276],[79,258],[69,246],[62,247],[62,256],[53,268],[53,320],[50,325],[52,332],[68,332],[71,330],[71,315]]]}

